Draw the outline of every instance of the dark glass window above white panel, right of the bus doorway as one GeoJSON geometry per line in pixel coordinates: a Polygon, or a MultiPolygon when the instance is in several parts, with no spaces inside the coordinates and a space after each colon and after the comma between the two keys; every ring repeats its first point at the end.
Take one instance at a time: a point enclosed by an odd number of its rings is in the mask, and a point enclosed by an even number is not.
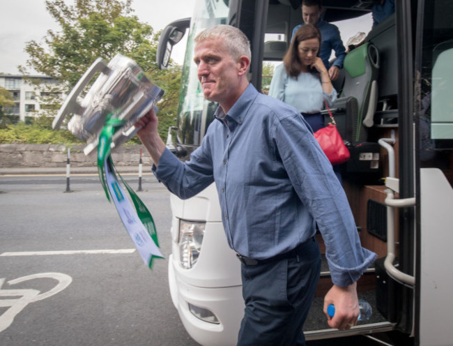
{"type": "Polygon", "coordinates": [[[420,166],[443,170],[453,186],[452,10],[451,1],[424,8],[417,125],[420,166]]]}

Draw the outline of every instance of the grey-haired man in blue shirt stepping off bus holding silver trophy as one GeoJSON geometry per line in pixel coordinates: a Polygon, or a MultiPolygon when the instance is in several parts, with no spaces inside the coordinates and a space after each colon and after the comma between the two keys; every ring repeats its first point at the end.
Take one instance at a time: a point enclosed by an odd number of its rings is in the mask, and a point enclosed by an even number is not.
{"type": "Polygon", "coordinates": [[[250,59],[247,37],[229,25],[195,38],[204,97],[220,107],[189,161],[166,148],[153,110],[135,126],[171,193],[190,198],[215,182],[229,246],[242,262],[238,345],[305,345],[321,262],[314,220],[334,283],[324,312],[331,303],[339,312],[328,320],[332,328],[356,324],[356,281],[376,255],[360,246],[344,190],[302,115],[249,84],[250,59]]]}

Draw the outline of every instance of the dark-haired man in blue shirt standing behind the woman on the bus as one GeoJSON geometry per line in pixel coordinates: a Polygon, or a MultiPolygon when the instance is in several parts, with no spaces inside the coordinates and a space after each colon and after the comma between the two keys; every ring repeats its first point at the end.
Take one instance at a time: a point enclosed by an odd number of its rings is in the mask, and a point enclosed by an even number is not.
{"type": "MultiPolygon", "coordinates": [[[[346,49],[344,48],[343,42],[339,29],[328,22],[324,22],[321,19],[321,13],[323,13],[323,7],[321,6],[321,0],[303,0],[302,1],[302,19],[304,24],[313,24],[319,31],[321,31],[321,48],[319,50],[319,57],[323,59],[325,68],[329,71],[330,80],[337,80],[339,77],[339,70],[343,68],[344,57],[346,57],[346,49]],[[335,59],[332,66],[329,68],[329,59],[332,50],[335,51],[335,59]]],[[[296,26],[293,29],[291,40],[293,39],[295,31],[303,24],[296,26]]]]}

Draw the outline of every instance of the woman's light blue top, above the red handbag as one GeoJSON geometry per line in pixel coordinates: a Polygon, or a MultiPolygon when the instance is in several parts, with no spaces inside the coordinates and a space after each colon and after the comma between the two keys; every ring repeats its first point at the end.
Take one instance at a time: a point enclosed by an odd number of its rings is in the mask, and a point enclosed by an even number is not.
{"type": "Polygon", "coordinates": [[[289,77],[283,63],[274,70],[269,96],[292,105],[300,113],[318,113],[324,109],[324,100],[329,107],[337,99],[337,91],[325,93],[318,73],[300,73],[297,80],[289,77]]]}

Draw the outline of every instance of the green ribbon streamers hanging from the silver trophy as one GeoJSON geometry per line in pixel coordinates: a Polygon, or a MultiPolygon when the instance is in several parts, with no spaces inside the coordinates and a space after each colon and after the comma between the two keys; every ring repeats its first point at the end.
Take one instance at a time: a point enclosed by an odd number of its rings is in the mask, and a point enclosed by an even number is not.
{"type": "MultiPolygon", "coordinates": [[[[151,239],[153,239],[154,243],[156,246],[159,247],[159,242],[158,242],[158,232],[155,229],[155,223],[153,220],[153,216],[151,216],[151,213],[148,211],[148,208],[146,208],[145,204],[141,201],[140,197],[137,196],[137,193],[129,186],[128,183],[123,179],[121,174],[118,173],[118,170],[116,170],[116,167],[114,166],[112,156],[110,155],[111,153],[111,144],[112,144],[112,138],[114,134],[121,129],[121,126],[123,126],[123,123],[125,123],[124,120],[120,120],[118,118],[115,118],[113,114],[108,114],[107,116],[107,121],[105,122],[104,128],[102,128],[99,136],[99,144],[98,144],[98,174],[99,174],[99,179],[102,184],[102,188],[104,188],[105,195],[107,196],[107,200],[109,202],[112,202],[110,200],[110,192],[109,189],[107,188],[107,181],[105,177],[105,169],[104,169],[104,164],[105,161],[107,160],[107,168],[109,169],[109,172],[111,172],[114,176],[118,176],[123,185],[125,186],[126,190],[128,190],[128,193],[130,195],[130,199],[132,200],[132,203],[135,206],[135,210],[137,211],[137,216],[139,217],[141,223],[144,225],[146,228],[146,231],[148,234],[151,236],[151,239]]],[[[151,260],[148,264],[149,268],[151,269],[152,263],[153,263],[153,258],[162,258],[160,256],[151,256],[151,260]]]]}

